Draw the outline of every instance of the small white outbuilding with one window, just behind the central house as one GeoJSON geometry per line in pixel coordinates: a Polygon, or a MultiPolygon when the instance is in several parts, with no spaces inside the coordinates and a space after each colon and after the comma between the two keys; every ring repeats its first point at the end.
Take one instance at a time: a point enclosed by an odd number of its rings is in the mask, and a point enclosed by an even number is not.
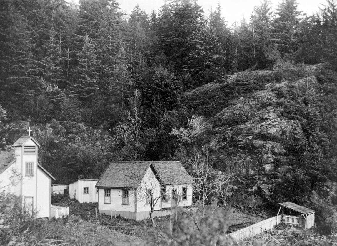
{"type": "Polygon", "coordinates": [[[69,197],[79,202],[97,202],[98,189],[95,185],[98,179],[78,179],[69,184],[69,197]]]}

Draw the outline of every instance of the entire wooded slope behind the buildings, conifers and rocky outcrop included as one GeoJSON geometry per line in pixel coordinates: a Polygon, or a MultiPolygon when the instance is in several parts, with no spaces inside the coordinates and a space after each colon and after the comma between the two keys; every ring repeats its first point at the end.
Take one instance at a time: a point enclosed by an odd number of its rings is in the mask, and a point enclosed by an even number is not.
{"type": "Polygon", "coordinates": [[[203,162],[231,174],[224,203],[292,201],[337,230],[337,2],[272,7],[228,25],[192,0],[1,0],[1,150],[31,127],[56,183],[203,162]]]}

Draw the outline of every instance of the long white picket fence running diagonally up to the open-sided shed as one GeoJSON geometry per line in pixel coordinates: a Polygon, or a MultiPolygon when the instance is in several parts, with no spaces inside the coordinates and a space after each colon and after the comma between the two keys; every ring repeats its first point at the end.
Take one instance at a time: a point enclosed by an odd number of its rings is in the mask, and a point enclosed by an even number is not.
{"type": "Polygon", "coordinates": [[[262,220],[255,224],[249,225],[238,231],[227,234],[233,239],[233,241],[238,242],[248,237],[253,237],[257,234],[263,233],[268,230],[272,230],[275,225],[281,223],[282,215],[278,215],[269,219],[262,220]]]}

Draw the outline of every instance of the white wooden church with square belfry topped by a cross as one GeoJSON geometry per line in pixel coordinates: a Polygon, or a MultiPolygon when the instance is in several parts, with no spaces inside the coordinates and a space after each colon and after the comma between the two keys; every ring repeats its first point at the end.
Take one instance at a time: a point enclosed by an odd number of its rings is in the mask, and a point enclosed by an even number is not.
{"type": "Polygon", "coordinates": [[[55,178],[37,162],[40,145],[22,136],[13,150],[0,151],[0,191],[22,199],[22,206],[36,217],[51,217],[51,185],[55,178]]]}

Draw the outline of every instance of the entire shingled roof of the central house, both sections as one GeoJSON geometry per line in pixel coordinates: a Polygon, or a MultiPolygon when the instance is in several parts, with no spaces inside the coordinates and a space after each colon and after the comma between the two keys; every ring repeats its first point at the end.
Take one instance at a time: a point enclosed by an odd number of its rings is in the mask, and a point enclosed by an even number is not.
{"type": "Polygon", "coordinates": [[[193,183],[192,177],[180,162],[134,161],[111,162],[98,180],[96,187],[133,188],[139,185],[146,170],[152,166],[162,184],[193,183]]]}

